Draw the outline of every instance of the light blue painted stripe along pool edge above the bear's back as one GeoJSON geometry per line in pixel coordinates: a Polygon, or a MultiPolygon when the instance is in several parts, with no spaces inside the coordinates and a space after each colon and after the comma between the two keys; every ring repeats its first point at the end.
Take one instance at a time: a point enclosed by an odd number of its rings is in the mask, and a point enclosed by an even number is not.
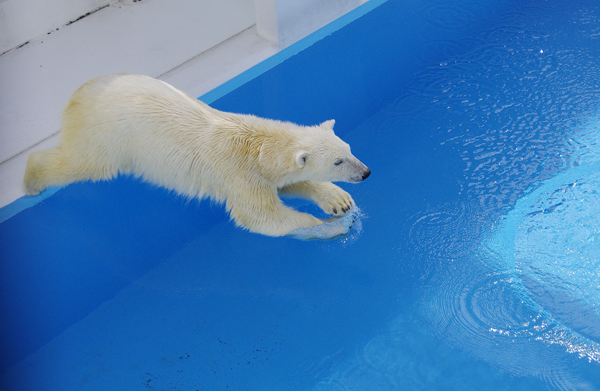
{"type": "Polygon", "coordinates": [[[253,66],[252,68],[248,69],[247,71],[239,74],[238,76],[234,77],[233,79],[226,81],[225,83],[221,84],[219,87],[215,88],[214,90],[207,92],[206,94],[202,95],[198,99],[200,99],[202,102],[204,102],[206,104],[210,104],[210,103],[216,101],[217,99],[229,94],[231,91],[235,90],[236,88],[239,88],[240,86],[246,84],[247,82],[262,75],[269,69],[276,67],[277,65],[281,64],[288,58],[295,56],[296,54],[300,53],[304,49],[309,48],[310,46],[314,45],[315,43],[317,43],[321,39],[325,38],[326,36],[336,32],[337,30],[341,29],[342,27],[346,26],[347,24],[352,23],[356,19],[369,13],[370,11],[374,10],[375,8],[379,7],[380,5],[382,5],[385,2],[387,2],[387,0],[370,0],[367,3],[365,3],[359,7],[356,7],[352,11],[339,17],[338,19],[334,20],[333,22],[329,23],[328,25],[315,31],[314,33],[304,37],[303,39],[294,43],[293,45],[288,46],[287,48],[285,48],[282,51],[278,52],[277,54],[274,54],[273,56],[267,58],[266,60],[262,61],[261,63],[253,66]]]}

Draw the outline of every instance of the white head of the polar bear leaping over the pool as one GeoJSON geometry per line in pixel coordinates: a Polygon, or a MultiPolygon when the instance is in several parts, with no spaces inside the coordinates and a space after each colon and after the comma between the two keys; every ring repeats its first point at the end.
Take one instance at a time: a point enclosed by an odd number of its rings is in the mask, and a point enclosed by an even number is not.
{"type": "Polygon", "coordinates": [[[294,151],[296,181],[351,182],[367,179],[371,170],[333,133],[334,120],[304,129],[294,151]]]}

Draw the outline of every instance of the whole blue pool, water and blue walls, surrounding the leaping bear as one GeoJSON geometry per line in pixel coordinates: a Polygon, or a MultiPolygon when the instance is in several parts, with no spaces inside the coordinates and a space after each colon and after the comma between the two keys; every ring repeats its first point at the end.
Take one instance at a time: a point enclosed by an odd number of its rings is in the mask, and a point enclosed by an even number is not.
{"type": "Polygon", "coordinates": [[[2,389],[600,389],[600,3],[374,1],[203,98],[335,118],[351,233],[59,189],[0,224],[2,389]]]}

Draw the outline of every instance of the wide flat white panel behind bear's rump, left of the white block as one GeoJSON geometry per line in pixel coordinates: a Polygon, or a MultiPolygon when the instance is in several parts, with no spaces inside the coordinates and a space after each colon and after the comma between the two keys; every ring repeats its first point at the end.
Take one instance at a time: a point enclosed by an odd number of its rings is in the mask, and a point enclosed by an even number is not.
{"type": "Polygon", "coordinates": [[[59,130],[62,108],[107,73],[159,76],[254,25],[252,0],[104,8],[0,57],[0,162],[59,130]]]}

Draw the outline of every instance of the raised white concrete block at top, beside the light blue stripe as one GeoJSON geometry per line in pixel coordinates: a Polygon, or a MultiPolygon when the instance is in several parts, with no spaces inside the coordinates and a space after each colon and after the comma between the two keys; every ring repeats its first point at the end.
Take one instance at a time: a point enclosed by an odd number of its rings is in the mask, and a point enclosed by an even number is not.
{"type": "Polygon", "coordinates": [[[366,0],[255,0],[259,36],[283,49],[366,0]]]}

